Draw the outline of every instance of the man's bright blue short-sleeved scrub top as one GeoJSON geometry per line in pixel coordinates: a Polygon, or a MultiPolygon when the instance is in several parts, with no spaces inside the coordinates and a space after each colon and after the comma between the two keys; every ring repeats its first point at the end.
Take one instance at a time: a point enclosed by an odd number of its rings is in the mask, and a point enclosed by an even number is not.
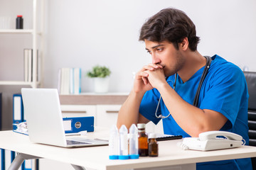
{"type": "MultiPolygon", "coordinates": [[[[196,96],[203,69],[198,70],[185,83],[178,76],[176,81],[176,93],[184,101],[193,104],[196,96]]],[[[168,84],[174,88],[175,76],[166,79],[168,84]]],[[[159,123],[160,118],[156,118],[156,106],[159,101],[159,91],[152,89],[146,91],[140,104],[139,113],[151,120],[154,124],[159,123]]],[[[210,69],[206,79],[203,81],[201,92],[198,98],[198,108],[218,111],[228,118],[227,123],[220,130],[234,132],[241,135],[245,140],[245,145],[249,144],[247,126],[247,106],[248,92],[245,76],[241,69],[235,64],[227,62],[222,57],[214,55],[210,64],[210,69]]],[[[161,99],[157,115],[169,115],[164,101],[161,99]]],[[[191,137],[176,123],[170,115],[163,119],[164,133],[169,135],[182,135],[191,137]]],[[[234,159],[220,162],[205,162],[197,164],[197,169],[252,169],[250,159],[234,159]],[[228,168],[227,168],[228,167],[228,168]],[[233,168],[234,167],[234,168],[233,168]]]]}

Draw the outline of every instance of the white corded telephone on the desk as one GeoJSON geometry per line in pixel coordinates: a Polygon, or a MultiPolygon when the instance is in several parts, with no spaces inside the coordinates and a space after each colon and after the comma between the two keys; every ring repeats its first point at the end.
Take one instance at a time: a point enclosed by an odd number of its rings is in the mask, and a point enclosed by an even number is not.
{"type": "Polygon", "coordinates": [[[242,145],[245,145],[245,140],[240,135],[225,131],[202,132],[199,137],[185,137],[183,142],[178,144],[183,149],[201,151],[228,149],[242,145]]]}

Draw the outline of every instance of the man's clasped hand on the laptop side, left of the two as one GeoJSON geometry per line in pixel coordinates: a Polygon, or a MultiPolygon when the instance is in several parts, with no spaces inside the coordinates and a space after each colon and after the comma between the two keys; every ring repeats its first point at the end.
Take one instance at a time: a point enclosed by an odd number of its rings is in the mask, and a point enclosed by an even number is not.
{"type": "Polygon", "coordinates": [[[134,79],[134,91],[135,92],[143,92],[149,91],[153,89],[154,86],[151,85],[148,77],[150,72],[154,72],[155,70],[161,70],[163,67],[159,64],[148,64],[137,72],[134,79]]]}

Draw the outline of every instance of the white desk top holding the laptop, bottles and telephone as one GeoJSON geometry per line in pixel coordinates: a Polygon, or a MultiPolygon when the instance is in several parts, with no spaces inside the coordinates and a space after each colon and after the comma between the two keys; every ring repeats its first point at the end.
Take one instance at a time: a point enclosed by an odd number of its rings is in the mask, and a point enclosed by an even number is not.
{"type": "MultiPolygon", "coordinates": [[[[101,131],[95,130],[94,134],[101,131]]],[[[106,133],[101,132],[101,135],[106,133]]],[[[235,149],[200,152],[183,150],[176,146],[181,140],[159,142],[159,157],[140,157],[129,160],[110,160],[108,146],[62,148],[48,145],[33,144],[28,136],[12,131],[0,132],[0,148],[15,152],[53,159],[90,169],[143,169],[160,166],[175,166],[180,164],[196,165],[197,162],[218,161],[224,159],[239,159],[256,157],[256,147],[242,146],[235,149]]]]}

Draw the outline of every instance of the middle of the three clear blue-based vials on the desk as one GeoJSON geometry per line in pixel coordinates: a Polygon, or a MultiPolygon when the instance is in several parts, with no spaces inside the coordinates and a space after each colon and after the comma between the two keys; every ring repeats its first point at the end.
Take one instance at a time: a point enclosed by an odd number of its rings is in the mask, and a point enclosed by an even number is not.
{"type": "Polygon", "coordinates": [[[128,154],[128,130],[125,125],[119,129],[119,159],[129,159],[128,154]]]}

